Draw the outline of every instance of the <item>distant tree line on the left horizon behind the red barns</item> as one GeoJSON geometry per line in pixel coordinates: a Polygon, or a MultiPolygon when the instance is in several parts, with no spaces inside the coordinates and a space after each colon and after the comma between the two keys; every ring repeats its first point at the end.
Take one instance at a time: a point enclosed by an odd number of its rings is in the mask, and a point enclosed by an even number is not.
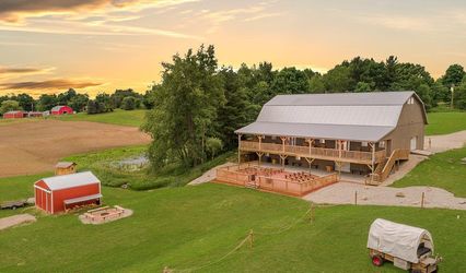
{"type": "Polygon", "coordinates": [[[88,94],[81,94],[73,88],[59,94],[43,94],[37,99],[26,93],[0,96],[0,114],[10,110],[46,111],[57,105],[68,105],[74,111],[86,111],[88,114],[107,112],[116,108],[132,110],[145,106],[151,107],[147,96],[131,88],[116,90],[113,94],[98,93],[95,99],[91,99],[88,94]]]}

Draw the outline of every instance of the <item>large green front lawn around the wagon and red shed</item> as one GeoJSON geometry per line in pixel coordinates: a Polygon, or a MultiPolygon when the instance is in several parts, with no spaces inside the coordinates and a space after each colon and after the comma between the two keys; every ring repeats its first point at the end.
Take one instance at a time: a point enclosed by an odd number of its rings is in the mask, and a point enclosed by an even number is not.
{"type": "MultiPolygon", "coordinates": [[[[28,179],[11,187],[22,188],[23,182],[28,179]]],[[[429,229],[444,257],[442,271],[466,271],[464,211],[317,206],[311,224],[296,221],[310,206],[303,200],[223,185],[154,191],[104,187],[103,194],[105,204],[135,214],[98,226],[81,224],[78,214],[39,215],[34,224],[2,230],[0,272],[161,272],[164,266],[200,268],[197,272],[400,272],[370,262],[368,230],[377,217],[429,229]],[[251,229],[254,247],[246,244],[219,261],[251,229]]]]}

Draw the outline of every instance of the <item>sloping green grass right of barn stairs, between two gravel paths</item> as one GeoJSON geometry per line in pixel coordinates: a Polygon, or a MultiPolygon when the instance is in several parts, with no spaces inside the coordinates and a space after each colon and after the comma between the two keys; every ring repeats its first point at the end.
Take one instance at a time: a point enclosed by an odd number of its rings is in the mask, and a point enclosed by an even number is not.
{"type": "Polygon", "coordinates": [[[393,187],[432,186],[466,198],[466,147],[430,156],[393,187]]]}

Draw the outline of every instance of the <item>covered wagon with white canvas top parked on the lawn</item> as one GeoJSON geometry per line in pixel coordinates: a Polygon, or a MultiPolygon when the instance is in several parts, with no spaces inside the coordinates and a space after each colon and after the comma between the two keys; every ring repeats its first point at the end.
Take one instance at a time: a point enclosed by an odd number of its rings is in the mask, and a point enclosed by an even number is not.
{"type": "Polygon", "coordinates": [[[369,253],[372,263],[381,266],[391,261],[411,272],[436,272],[441,258],[433,257],[433,240],[423,228],[377,218],[369,230],[369,253]]]}

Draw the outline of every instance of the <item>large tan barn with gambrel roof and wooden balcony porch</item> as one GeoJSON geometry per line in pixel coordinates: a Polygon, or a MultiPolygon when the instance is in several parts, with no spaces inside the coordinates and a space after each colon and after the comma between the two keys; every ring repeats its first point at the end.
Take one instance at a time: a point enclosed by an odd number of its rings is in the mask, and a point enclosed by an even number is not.
{"type": "Polygon", "coordinates": [[[415,92],[278,95],[235,131],[238,162],[366,175],[378,185],[423,150],[427,122],[415,92]]]}

